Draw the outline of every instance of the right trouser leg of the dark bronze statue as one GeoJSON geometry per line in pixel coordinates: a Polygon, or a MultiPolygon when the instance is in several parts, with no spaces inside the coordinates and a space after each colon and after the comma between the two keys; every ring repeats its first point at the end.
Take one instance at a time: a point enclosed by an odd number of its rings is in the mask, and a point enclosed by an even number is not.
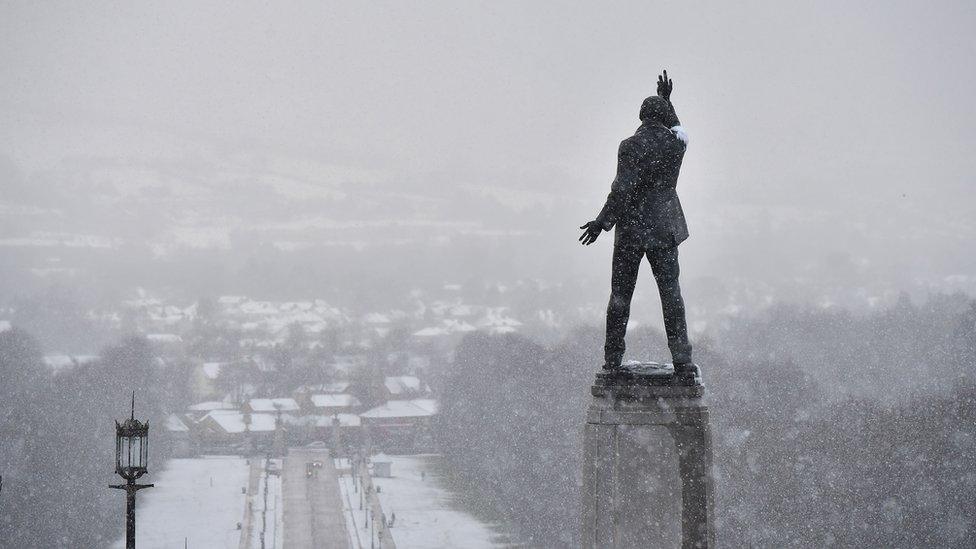
{"type": "Polygon", "coordinates": [[[688,324],[685,320],[685,302],[681,299],[678,285],[678,247],[653,248],[647,252],[647,260],[657,281],[664,311],[664,330],[668,334],[668,348],[675,364],[691,362],[691,344],[688,343],[688,324]]]}

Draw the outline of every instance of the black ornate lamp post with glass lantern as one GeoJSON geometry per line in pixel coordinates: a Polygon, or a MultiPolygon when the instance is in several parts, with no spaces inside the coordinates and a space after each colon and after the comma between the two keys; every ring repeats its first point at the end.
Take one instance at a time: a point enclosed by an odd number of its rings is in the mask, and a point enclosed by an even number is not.
{"type": "Polygon", "coordinates": [[[152,484],[136,484],[146,474],[149,461],[149,422],[136,419],[136,394],[132,393],[132,413],[121,424],[115,422],[115,472],[125,484],[110,484],[109,488],[125,490],[125,548],[136,546],[136,492],[152,488],[152,484]]]}

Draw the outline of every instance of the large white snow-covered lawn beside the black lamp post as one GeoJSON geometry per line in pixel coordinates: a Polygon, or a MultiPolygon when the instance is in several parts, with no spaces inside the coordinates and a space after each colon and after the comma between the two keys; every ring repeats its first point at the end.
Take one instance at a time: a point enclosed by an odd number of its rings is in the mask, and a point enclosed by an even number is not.
{"type": "MultiPolygon", "coordinates": [[[[171,459],[141,480],[156,486],[136,496],[137,547],[183,547],[184,539],[191,548],[240,546],[247,500],[241,489],[248,485],[243,458],[171,459]]],[[[113,547],[125,547],[125,539],[113,547]]]]}

